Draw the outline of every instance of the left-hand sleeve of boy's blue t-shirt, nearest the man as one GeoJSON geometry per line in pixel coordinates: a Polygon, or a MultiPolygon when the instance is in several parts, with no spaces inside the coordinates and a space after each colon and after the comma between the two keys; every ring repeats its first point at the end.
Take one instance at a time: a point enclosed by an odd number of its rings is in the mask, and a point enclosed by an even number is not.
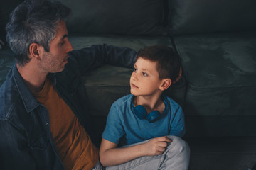
{"type": "Polygon", "coordinates": [[[118,144],[119,139],[124,136],[124,128],[122,125],[122,109],[115,103],[110,108],[110,113],[107,115],[107,123],[102,138],[110,142],[118,144]]]}

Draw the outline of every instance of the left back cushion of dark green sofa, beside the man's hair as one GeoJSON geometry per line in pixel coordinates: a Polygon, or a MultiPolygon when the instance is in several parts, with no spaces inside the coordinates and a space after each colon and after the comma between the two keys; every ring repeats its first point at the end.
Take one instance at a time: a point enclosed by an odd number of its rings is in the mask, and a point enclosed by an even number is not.
{"type": "Polygon", "coordinates": [[[75,33],[161,35],[164,5],[159,0],[61,0],[70,6],[68,30],[75,33]]]}

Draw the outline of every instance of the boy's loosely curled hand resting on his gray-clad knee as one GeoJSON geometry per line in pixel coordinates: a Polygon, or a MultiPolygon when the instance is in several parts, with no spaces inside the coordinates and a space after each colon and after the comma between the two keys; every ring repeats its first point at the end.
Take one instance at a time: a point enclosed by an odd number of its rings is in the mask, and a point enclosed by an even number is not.
{"type": "Polygon", "coordinates": [[[168,142],[172,140],[168,137],[156,137],[149,142],[144,143],[144,153],[146,156],[154,156],[163,154],[168,146],[168,142]]]}

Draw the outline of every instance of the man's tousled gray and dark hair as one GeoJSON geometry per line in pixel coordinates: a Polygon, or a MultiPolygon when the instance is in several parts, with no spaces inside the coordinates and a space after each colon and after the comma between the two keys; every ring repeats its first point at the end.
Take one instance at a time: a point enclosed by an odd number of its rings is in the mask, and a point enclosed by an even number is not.
{"type": "Polygon", "coordinates": [[[29,45],[33,42],[49,52],[58,21],[65,20],[69,14],[70,8],[57,1],[26,0],[17,6],[6,25],[6,40],[18,64],[25,65],[30,61],[29,45]]]}

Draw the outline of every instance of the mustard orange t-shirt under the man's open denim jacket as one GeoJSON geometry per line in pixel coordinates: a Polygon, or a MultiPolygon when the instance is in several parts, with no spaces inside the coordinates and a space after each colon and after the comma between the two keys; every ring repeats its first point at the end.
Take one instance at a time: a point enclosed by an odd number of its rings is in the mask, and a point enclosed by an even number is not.
{"type": "Polygon", "coordinates": [[[92,169],[99,159],[99,151],[51,81],[46,79],[43,89],[34,96],[48,110],[50,132],[65,169],[92,169]]]}

